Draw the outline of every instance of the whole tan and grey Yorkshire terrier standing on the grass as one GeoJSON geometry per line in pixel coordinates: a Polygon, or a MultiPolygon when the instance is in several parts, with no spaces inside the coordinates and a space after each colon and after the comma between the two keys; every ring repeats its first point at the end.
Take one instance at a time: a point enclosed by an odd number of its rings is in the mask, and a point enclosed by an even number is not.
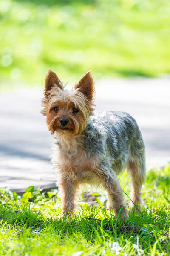
{"type": "MultiPolygon", "coordinates": [[[[108,193],[108,207],[127,216],[124,194],[117,174],[127,168],[132,177],[130,209],[141,206],[145,181],[144,142],[139,127],[129,114],[119,111],[94,113],[94,81],[88,71],[65,89],[56,73],[48,70],[43,110],[54,135],[52,163],[62,198],[62,212],[74,214],[79,185],[102,185],[108,193]]],[[[135,210],[134,209],[134,210],[135,210]]]]}

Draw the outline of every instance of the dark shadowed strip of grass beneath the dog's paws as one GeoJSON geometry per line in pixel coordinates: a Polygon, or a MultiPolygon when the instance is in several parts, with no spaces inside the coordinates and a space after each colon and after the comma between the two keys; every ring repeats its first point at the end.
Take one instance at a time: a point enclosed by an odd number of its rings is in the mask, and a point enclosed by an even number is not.
{"type": "MultiPolygon", "coordinates": [[[[149,232],[149,226],[145,230],[142,229],[143,224],[153,226],[156,224],[157,217],[153,213],[147,214],[143,211],[140,215],[134,215],[130,213],[128,219],[123,219],[122,217],[117,218],[114,215],[109,215],[107,218],[98,219],[93,217],[85,217],[80,214],[74,217],[63,217],[57,216],[55,219],[45,218],[41,212],[34,212],[30,208],[24,207],[23,209],[3,209],[0,212],[0,222],[1,225],[4,223],[11,228],[31,228],[31,230],[37,229],[47,229],[54,233],[59,233],[60,236],[66,235],[68,232],[75,233],[80,232],[85,234],[86,239],[90,239],[91,234],[93,234],[94,239],[97,233],[100,235],[107,233],[108,236],[118,237],[120,235],[125,235],[127,238],[136,235],[146,235],[149,232]],[[143,233],[145,231],[145,233],[143,233]]],[[[166,216],[164,209],[157,212],[163,219],[166,216]]],[[[157,224],[161,225],[161,221],[157,224]]]]}

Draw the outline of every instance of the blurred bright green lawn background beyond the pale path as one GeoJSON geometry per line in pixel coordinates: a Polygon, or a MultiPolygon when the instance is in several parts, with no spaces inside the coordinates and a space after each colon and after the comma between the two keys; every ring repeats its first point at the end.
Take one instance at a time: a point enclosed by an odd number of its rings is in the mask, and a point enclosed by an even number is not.
{"type": "Polygon", "coordinates": [[[0,84],[170,73],[170,0],[1,0],[0,84]]]}

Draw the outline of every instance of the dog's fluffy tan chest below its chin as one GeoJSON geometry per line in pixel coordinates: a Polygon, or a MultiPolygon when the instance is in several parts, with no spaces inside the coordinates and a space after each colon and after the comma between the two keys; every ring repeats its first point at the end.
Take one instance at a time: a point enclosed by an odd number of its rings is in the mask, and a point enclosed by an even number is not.
{"type": "Polygon", "coordinates": [[[72,140],[59,140],[55,143],[57,147],[53,162],[71,177],[89,183],[99,169],[99,157],[97,154],[91,154],[91,151],[85,147],[83,139],[83,137],[78,140],[72,138],[72,140]]]}

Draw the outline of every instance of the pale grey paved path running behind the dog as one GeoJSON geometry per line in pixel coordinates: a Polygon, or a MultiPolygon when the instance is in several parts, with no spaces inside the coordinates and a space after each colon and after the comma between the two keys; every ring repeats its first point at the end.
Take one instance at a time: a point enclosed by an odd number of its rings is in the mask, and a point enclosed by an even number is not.
{"type": "MultiPolygon", "coordinates": [[[[170,160],[170,78],[96,82],[96,108],[130,113],[138,122],[147,166],[170,160]]],[[[0,93],[0,187],[55,187],[52,136],[39,113],[42,88],[0,93]]]]}

